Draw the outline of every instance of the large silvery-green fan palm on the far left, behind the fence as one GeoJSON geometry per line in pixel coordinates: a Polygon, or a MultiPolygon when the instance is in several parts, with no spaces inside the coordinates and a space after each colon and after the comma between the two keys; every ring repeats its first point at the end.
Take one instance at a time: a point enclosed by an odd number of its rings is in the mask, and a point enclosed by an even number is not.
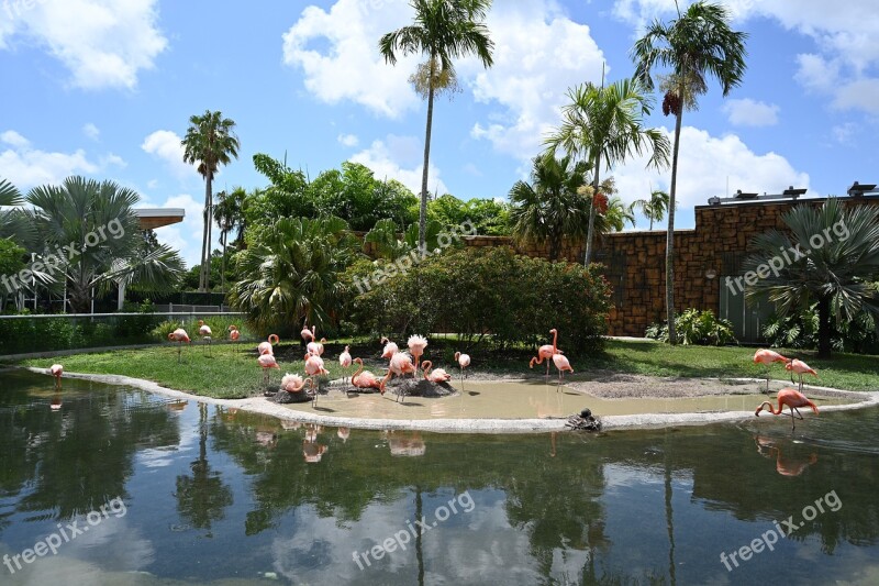
{"type": "Polygon", "coordinates": [[[34,278],[67,286],[75,312],[87,312],[97,290],[136,284],[168,291],[179,283],[183,262],[159,245],[147,251],[133,207],[140,196],[112,181],[68,177],[60,186],[31,189],[25,213],[43,242],[34,278]],[[64,247],[64,248],[63,248],[64,247]]]}

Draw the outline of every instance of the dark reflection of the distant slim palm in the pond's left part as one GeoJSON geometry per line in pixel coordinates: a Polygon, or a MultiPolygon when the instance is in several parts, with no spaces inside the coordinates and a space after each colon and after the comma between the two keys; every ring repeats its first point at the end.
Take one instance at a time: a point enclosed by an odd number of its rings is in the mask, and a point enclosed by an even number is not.
{"type": "Polygon", "coordinates": [[[225,517],[224,509],[232,505],[232,490],[208,463],[208,406],[203,402],[199,402],[199,458],[190,468],[192,476],[177,477],[177,510],[192,527],[210,531],[211,522],[225,517]]]}

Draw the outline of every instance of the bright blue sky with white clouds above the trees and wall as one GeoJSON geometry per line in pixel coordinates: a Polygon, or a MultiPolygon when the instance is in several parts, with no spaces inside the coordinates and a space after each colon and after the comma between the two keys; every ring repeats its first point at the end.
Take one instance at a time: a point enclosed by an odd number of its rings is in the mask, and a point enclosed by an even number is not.
{"type": "MultiPolygon", "coordinates": [[[[876,0],[725,4],[749,35],[748,67],[728,96],[711,81],[683,114],[676,226],[736,189],[823,197],[879,183],[876,0]]],[[[190,265],[204,184],[180,139],[205,110],[234,120],[241,140],[215,191],[264,187],[252,157],[266,153],[312,178],[363,163],[418,192],[426,103],[409,76],[422,59],[391,66],[377,47],[412,15],[407,0],[0,0],[0,177],[23,192],[70,175],[112,179],[141,207],[183,208],[182,223],[156,233],[190,265]]],[[[602,67],[610,82],[631,77],[645,25],[675,15],[674,0],[494,0],[494,66],[457,62],[461,91],[436,101],[431,190],[505,198],[569,88],[600,84],[602,67]]],[[[659,103],[646,122],[671,136],[659,103]]],[[[670,172],[645,163],[602,175],[627,202],[667,190],[670,172]]]]}

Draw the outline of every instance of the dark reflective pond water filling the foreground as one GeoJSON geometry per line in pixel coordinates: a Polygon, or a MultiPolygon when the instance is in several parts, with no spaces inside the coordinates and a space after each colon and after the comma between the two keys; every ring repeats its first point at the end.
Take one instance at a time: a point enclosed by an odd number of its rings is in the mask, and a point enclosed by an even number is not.
{"type": "Polygon", "coordinates": [[[0,566],[0,584],[879,583],[876,409],[794,434],[782,418],[346,433],[52,385],[0,373],[0,555],[15,570],[0,566]],[[742,560],[789,517],[795,532],[742,560]],[[88,531],[16,570],[59,523],[88,531]]]}

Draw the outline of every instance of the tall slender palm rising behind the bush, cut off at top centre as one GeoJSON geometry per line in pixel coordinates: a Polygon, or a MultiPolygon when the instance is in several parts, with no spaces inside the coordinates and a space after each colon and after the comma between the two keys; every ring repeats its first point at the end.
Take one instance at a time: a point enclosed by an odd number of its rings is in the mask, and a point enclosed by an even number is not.
{"type": "Polygon", "coordinates": [[[433,100],[437,92],[456,87],[453,59],[476,55],[488,68],[493,64],[494,43],[483,24],[491,0],[412,0],[413,24],[390,32],[379,41],[386,63],[397,63],[402,55],[421,54],[426,62],[410,78],[416,91],[427,99],[427,125],[424,137],[424,168],[421,177],[419,246],[424,246],[427,222],[427,167],[431,158],[433,100]]]}

